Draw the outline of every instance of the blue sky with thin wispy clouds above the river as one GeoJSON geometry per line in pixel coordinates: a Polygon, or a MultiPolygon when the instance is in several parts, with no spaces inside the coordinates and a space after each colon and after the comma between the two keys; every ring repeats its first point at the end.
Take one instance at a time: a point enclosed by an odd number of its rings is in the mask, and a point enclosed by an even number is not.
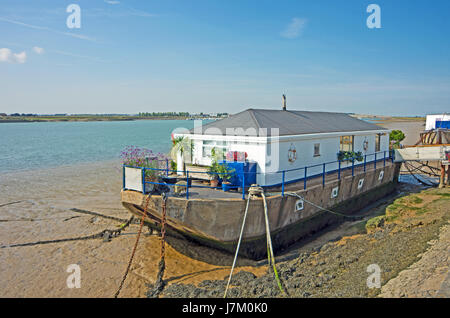
{"type": "Polygon", "coordinates": [[[449,112],[449,15],[448,0],[2,0],[0,113],[236,113],[283,93],[293,110],[449,112]]]}

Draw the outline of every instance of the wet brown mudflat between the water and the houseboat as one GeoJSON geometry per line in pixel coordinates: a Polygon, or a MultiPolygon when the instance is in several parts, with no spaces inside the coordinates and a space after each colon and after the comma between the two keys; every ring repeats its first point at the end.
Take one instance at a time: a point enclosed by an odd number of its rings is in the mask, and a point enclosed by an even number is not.
{"type": "MultiPolygon", "coordinates": [[[[421,123],[389,123],[416,140],[421,123]]],[[[0,178],[0,297],[112,297],[127,266],[138,225],[130,225],[110,242],[102,239],[25,247],[11,244],[91,235],[118,228],[120,222],[80,214],[72,208],[122,219],[130,217],[120,202],[122,170],[118,161],[63,166],[2,174],[0,178]],[[68,288],[67,267],[78,264],[81,288],[68,288]]],[[[146,231],[145,231],[146,232],[146,231]]],[[[147,233],[148,234],[148,233],[147,233]]],[[[338,233],[339,234],[339,233],[338,233]]],[[[336,236],[327,233],[316,242],[336,236]]],[[[309,243],[314,247],[314,242],[309,243]]],[[[317,245],[317,244],[316,244],[317,245]]],[[[120,297],[145,297],[156,279],[160,239],[142,235],[120,297]]],[[[165,279],[169,284],[222,280],[232,256],[184,241],[166,247],[165,279]],[[178,247],[177,250],[173,246],[178,247]],[[187,256],[189,255],[189,256],[187,256]],[[207,258],[205,258],[207,255],[207,258]]],[[[241,260],[241,265],[251,263],[241,260]]],[[[267,266],[239,266],[260,277],[267,266]]]]}

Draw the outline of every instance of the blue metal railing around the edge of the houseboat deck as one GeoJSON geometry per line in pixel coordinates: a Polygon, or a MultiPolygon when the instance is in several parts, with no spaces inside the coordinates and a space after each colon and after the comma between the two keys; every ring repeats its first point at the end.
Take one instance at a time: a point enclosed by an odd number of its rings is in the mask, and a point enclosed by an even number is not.
{"type": "MultiPolygon", "coordinates": [[[[338,180],[341,179],[342,176],[342,172],[345,170],[349,170],[351,169],[352,172],[352,176],[355,175],[355,168],[363,166],[363,171],[366,172],[367,168],[370,165],[373,165],[374,170],[377,168],[377,162],[383,162],[383,166],[386,166],[386,161],[391,160],[392,162],[394,162],[394,152],[393,151],[380,151],[380,152],[375,152],[373,154],[366,154],[364,155],[364,158],[362,161],[356,161],[356,160],[336,160],[336,161],[331,161],[331,162],[325,162],[325,163],[320,163],[320,164],[316,164],[316,165],[311,165],[311,166],[305,166],[305,167],[301,167],[301,168],[294,168],[294,169],[287,169],[287,170],[282,170],[282,171],[276,171],[276,172],[240,172],[240,176],[242,177],[242,184],[239,185],[239,187],[241,188],[241,193],[242,193],[242,199],[245,200],[245,193],[246,193],[246,188],[248,188],[248,186],[246,186],[245,184],[245,175],[246,174],[256,174],[256,175],[264,175],[264,176],[268,176],[268,175],[280,175],[281,174],[281,182],[279,183],[274,183],[274,184],[269,184],[269,185],[263,185],[262,187],[264,188],[269,188],[269,187],[280,187],[281,186],[281,195],[284,196],[285,193],[285,187],[288,184],[291,183],[296,183],[296,182],[300,182],[303,181],[303,188],[306,190],[307,188],[307,182],[310,179],[313,178],[317,178],[319,176],[322,177],[322,185],[325,185],[326,182],[326,176],[330,175],[330,174],[334,174],[337,173],[337,177],[338,180]],[[381,156],[379,156],[381,155],[381,156]],[[373,156],[373,160],[367,160],[368,158],[373,156]],[[344,162],[351,162],[351,164],[347,164],[346,167],[342,167],[342,163],[344,162]],[[356,162],[356,163],[355,163],[356,162]],[[332,169],[332,170],[328,170],[327,171],[327,165],[337,165],[337,169],[332,169]],[[308,174],[308,171],[313,170],[314,168],[317,167],[321,167],[321,172],[319,173],[315,173],[315,174],[308,174]],[[290,173],[292,174],[292,172],[298,172],[298,176],[300,176],[299,178],[295,178],[295,179],[291,179],[286,181],[286,174],[290,173]]],[[[219,172],[206,172],[206,171],[183,171],[183,170],[171,170],[169,169],[169,160],[165,160],[166,161],[166,168],[147,168],[147,167],[135,167],[135,166],[129,166],[129,165],[123,165],[123,189],[126,190],[125,187],[125,168],[136,168],[136,169],[141,169],[141,178],[142,178],[142,189],[143,189],[143,193],[147,193],[147,184],[154,184],[154,185],[165,185],[165,186],[179,186],[179,187],[186,187],[186,199],[189,199],[189,188],[210,188],[210,189],[220,189],[221,187],[213,187],[213,186],[207,186],[207,185],[199,185],[199,184],[192,184],[192,180],[196,179],[196,178],[192,178],[192,174],[208,174],[208,175],[217,175],[218,178],[220,178],[220,176],[222,175],[230,175],[230,174],[235,174],[235,172],[223,172],[223,173],[219,173],[219,172]],[[179,173],[184,172],[185,173],[185,177],[177,177],[177,180],[181,180],[181,181],[185,181],[186,184],[172,184],[172,183],[167,183],[167,182],[155,182],[155,181],[147,181],[146,180],[146,176],[148,175],[148,171],[152,171],[151,174],[154,174],[156,177],[161,177],[163,175],[165,175],[166,177],[169,177],[169,173],[179,173]],[[191,176],[190,176],[191,174],[191,176]]],[[[316,169],[317,170],[317,169],[316,169]]],[[[237,188],[237,185],[234,185],[234,188],[237,188]]]]}

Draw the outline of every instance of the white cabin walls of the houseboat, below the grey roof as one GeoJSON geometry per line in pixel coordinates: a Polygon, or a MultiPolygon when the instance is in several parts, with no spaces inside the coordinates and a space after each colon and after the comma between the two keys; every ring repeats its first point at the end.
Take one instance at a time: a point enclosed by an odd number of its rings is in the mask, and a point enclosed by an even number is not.
{"type": "MultiPolygon", "coordinates": [[[[317,115],[318,112],[315,114],[317,115]]],[[[281,136],[270,134],[258,136],[251,130],[250,136],[245,136],[245,128],[240,136],[222,135],[217,132],[208,134],[208,129],[211,129],[208,128],[201,133],[191,131],[189,134],[174,134],[174,137],[184,136],[193,141],[194,149],[190,162],[193,165],[210,166],[213,148],[222,149],[224,153],[246,152],[247,160],[257,163],[257,183],[261,186],[269,186],[282,183],[281,171],[285,171],[284,182],[304,178],[304,167],[308,167],[307,177],[322,174],[324,163],[326,163],[326,172],[336,171],[339,168],[337,162],[339,151],[361,152],[364,159],[361,162],[355,161],[355,165],[363,163],[364,160],[366,163],[373,162],[375,153],[377,160],[383,159],[384,156],[389,157],[389,130],[374,127],[372,126],[370,130],[281,136]]],[[[351,161],[341,162],[341,168],[351,165],[351,161]]]]}

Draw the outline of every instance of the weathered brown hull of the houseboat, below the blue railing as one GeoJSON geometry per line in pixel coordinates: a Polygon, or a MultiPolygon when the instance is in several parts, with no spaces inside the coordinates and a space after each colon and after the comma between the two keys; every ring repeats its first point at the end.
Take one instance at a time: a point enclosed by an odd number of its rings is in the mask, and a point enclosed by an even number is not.
{"type": "MultiPolygon", "coordinates": [[[[283,249],[323,228],[340,222],[344,217],[323,211],[317,206],[351,215],[395,189],[399,165],[347,176],[295,193],[305,198],[302,210],[297,210],[298,197],[285,194],[267,196],[269,224],[274,250],[283,249]],[[380,179],[380,172],[383,178],[380,179]],[[360,180],[363,186],[359,187],[360,180]],[[338,188],[337,196],[332,197],[338,188]],[[306,202],[313,202],[314,205],[306,202]]],[[[302,188],[299,186],[299,188],[302,188]]],[[[292,193],[292,191],[291,191],[292,193]]],[[[336,193],[335,193],[336,194],[336,193]]],[[[142,217],[146,196],[140,192],[122,191],[123,205],[135,216],[142,217]]],[[[161,196],[149,200],[146,223],[159,228],[161,196]]],[[[167,233],[183,236],[197,243],[234,252],[239,239],[246,201],[242,199],[189,199],[169,197],[166,204],[167,233]]],[[[266,256],[266,231],[262,198],[251,199],[244,228],[240,255],[250,259],[266,256]]]]}

